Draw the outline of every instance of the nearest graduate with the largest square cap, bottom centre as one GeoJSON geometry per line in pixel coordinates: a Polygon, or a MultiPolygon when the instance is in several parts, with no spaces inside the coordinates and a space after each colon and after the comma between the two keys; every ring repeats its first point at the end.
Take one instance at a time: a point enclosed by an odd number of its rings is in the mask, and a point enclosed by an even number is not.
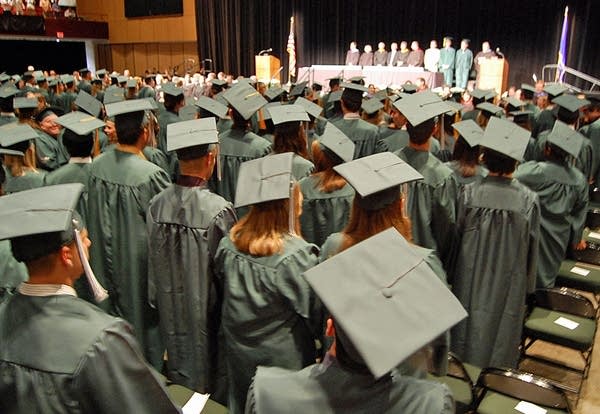
{"type": "Polygon", "coordinates": [[[396,369],[467,316],[427,254],[388,229],[305,272],[333,343],[298,372],[258,367],[246,413],[453,413],[446,385],[396,369]]]}

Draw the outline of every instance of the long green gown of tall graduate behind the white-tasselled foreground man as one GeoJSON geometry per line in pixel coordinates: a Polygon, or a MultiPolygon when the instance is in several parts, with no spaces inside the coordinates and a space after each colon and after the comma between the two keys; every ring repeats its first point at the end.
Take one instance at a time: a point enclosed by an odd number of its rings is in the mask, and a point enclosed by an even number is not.
{"type": "Polygon", "coordinates": [[[94,160],[88,185],[90,261],[109,291],[108,311],[130,322],[146,358],[159,367],[158,312],[148,304],[146,212],[169,185],[162,168],[140,156],[108,151],[94,160]]]}

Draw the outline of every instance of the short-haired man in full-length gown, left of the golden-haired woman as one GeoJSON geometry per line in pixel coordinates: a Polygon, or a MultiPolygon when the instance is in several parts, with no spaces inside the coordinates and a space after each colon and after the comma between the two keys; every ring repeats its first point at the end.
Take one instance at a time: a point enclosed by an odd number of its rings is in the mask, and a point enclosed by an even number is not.
{"type": "Polygon", "coordinates": [[[225,403],[218,340],[222,297],[214,257],[236,216],[231,203],[207,187],[217,144],[214,118],[168,126],[167,148],[177,151],[179,175],[152,199],[146,223],[150,301],[160,316],[167,377],[225,403]]]}

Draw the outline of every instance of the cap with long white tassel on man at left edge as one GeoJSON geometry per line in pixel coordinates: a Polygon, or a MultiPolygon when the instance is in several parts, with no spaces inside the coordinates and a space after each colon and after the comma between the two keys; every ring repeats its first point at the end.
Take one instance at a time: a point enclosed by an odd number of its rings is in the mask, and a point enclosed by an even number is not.
{"type": "Polygon", "coordinates": [[[0,240],[10,240],[15,259],[29,262],[75,241],[88,284],[97,302],[108,297],[85,256],[81,219],[75,211],[83,184],[61,184],[0,198],[0,240]]]}

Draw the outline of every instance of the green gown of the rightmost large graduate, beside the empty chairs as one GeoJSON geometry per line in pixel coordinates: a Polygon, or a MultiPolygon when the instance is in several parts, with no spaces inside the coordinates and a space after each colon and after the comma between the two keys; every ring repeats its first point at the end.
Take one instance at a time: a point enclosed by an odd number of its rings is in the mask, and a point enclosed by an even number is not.
{"type": "Polygon", "coordinates": [[[527,162],[515,178],[540,197],[540,260],[538,287],[553,287],[569,244],[583,238],[588,185],[580,171],[554,162],[527,162]]]}

